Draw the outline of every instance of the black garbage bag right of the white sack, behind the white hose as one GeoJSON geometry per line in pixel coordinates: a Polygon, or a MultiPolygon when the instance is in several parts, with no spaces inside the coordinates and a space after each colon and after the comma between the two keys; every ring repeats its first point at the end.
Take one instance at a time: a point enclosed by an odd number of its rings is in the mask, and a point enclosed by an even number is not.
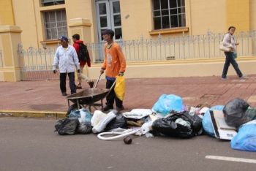
{"type": "Polygon", "coordinates": [[[116,118],[114,118],[105,128],[105,131],[109,131],[111,129],[116,128],[126,128],[127,126],[127,118],[124,117],[124,115],[118,114],[116,115],[116,118]]]}

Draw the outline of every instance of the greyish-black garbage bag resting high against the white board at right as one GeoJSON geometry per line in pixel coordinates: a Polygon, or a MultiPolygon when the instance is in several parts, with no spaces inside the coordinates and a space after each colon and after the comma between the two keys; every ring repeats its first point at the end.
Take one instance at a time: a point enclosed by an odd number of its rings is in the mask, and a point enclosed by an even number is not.
{"type": "Polygon", "coordinates": [[[246,110],[249,104],[244,99],[233,99],[223,108],[224,118],[228,126],[239,126],[246,123],[246,110]]]}

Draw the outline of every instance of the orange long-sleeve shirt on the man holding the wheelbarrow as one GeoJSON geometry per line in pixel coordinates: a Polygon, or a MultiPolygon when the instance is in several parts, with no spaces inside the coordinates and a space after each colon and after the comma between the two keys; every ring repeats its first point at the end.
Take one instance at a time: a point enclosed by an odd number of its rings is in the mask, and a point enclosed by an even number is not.
{"type": "Polygon", "coordinates": [[[105,59],[102,68],[105,69],[106,77],[116,77],[119,72],[125,72],[126,61],[121,47],[116,43],[108,48],[108,43],[105,47],[105,59]]]}

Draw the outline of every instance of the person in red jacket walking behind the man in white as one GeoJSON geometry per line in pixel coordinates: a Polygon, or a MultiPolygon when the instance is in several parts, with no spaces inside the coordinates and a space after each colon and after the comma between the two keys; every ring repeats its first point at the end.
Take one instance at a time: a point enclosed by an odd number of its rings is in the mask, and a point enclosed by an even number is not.
{"type": "MultiPolygon", "coordinates": [[[[74,34],[72,36],[72,39],[73,39],[73,47],[75,47],[75,51],[77,53],[79,53],[79,50],[80,50],[80,46],[79,44],[83,44],[83,40],[80,40],[80,35],[79,34],[74,34]]],[[[79,59],[79,64],[80,64],[80,73],[78,73],[78,85],[76,86],[76,88],[80,89],[82,88],[82,76],[83,76],[83,79],[85,79],[87,81],[87,83],[89,83],[89,86],[92,87],[93,86],[93,81],[89,80],[88,77],[85,78],[85,76],[83,75],[83,68],[84,66],[89,66],[91,67],[91,59],[90,58],[87,58],[86,61],[81,61],[79,59]],[[91,85],[92,84],[92,85],[91,85]]]]}

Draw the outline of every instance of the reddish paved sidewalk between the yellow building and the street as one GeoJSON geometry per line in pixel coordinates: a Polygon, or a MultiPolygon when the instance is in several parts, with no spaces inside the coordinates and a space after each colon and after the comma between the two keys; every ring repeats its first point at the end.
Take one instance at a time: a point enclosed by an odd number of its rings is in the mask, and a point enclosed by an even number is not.
{"type": "MultiPolygon", "coordinates": [[[[125,110],[151,108],[162,94],[181,96],[185,105],[222,104],[234,98],[245,99],[252,107],[256,106],[256,75],[248,80],[229,76],[220,77],[170,77],[127,79],[124,98],[125,110]]],[[[69,82],[67,93],[69,95],[69,82]]],[[[98,88],[105,88],[105,80],[99,81],[98,88]]],[[[83,88],[89,88],[83,83],[83,88]]],[[[78,92],[81,90],[78,90],[78,92]]],[[[59,80],[0,82],[0,114],[15,113],[66,113],[66,96],[61,96],[59,80]]]]}

